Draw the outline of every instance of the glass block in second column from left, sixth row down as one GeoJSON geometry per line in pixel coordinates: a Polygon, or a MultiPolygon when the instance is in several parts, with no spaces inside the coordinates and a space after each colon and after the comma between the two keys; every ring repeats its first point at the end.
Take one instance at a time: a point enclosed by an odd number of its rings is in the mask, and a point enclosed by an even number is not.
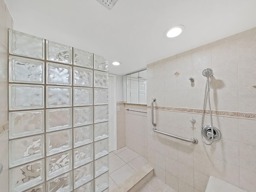
{"type": "Polygon", "coordinates": [[[72,151],[46,158],[46,179],[54,178],[72,169],[72,151]]]}

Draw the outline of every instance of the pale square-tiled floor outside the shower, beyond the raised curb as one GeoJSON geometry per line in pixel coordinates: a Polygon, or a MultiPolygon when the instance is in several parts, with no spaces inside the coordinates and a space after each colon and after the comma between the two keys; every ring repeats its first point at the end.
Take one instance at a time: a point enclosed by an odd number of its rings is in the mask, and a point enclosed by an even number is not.
{"type": "Polygon", "coordinates": [[[148,160],[128,147],[110,152],[109,154],[109,189],[122,184],[127,178],[136,173],[148,160]]]}

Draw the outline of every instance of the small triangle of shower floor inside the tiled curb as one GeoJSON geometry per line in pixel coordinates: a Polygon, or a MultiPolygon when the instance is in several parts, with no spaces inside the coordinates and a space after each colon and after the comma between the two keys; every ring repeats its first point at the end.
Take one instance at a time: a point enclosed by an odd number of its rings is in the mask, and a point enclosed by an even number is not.
{"type": "Polygon", "coordinates": [[[153,177],[139,192],[176,192],[156,177],[153,177]]]}

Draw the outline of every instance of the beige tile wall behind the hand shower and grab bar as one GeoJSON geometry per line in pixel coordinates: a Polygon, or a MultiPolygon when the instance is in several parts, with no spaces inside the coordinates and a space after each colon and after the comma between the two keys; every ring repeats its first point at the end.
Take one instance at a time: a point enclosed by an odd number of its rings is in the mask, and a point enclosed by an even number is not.
{"type": "MultiPolygon", "coordinates": [[[[148,105],[202,109],[206,78],[212,68],[213,110],[256,115],[256,28],[149,64],[148,105]],[[174,76],[179,72],[178,77],[174,76]],[[194,83],[188,80],[194,78],[194,83]]],[[[148,164],[156,176],[178,192],[204,192],[210,175],[248,192],[256,188],[256,120],[214,116],[222,138],[202,143],[200,114],[154,110],[158,130],[198,139],[191,144],[155,134],[148,109],[148,164]],[[193,126],[189,120],[196,119],[193,126]]],[[[210,124],[209,116],[205,122],[210,124]]]]}

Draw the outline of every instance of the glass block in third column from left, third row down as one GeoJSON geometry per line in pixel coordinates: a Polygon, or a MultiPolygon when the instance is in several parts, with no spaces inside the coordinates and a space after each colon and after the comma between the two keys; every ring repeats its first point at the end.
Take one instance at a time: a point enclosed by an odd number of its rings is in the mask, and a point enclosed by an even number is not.
{"type": "Polygon", "coordinates": [[[92,88],[74,87],[74,106],[92,105],[92,88]]]}

